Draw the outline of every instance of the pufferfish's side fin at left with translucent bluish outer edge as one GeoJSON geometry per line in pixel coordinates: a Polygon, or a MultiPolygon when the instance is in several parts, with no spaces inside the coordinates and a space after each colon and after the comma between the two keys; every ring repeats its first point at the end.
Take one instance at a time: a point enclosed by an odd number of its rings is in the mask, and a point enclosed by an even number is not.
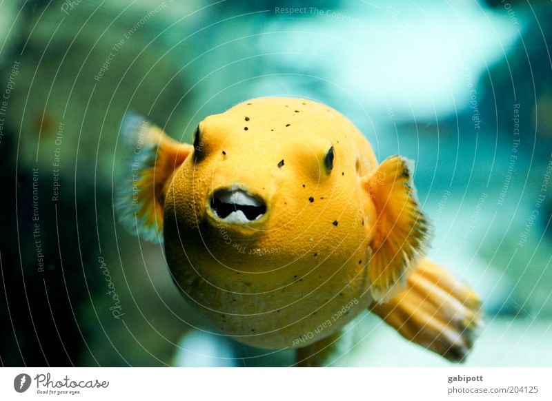
{"type": "Polygon", "coordinates": [[[166,191],[193,147],[175,141],[138,114],[126,114],[121,134],[128,161],[117,188],[117,215],[131,234],[162,242],[166,191]]]}

